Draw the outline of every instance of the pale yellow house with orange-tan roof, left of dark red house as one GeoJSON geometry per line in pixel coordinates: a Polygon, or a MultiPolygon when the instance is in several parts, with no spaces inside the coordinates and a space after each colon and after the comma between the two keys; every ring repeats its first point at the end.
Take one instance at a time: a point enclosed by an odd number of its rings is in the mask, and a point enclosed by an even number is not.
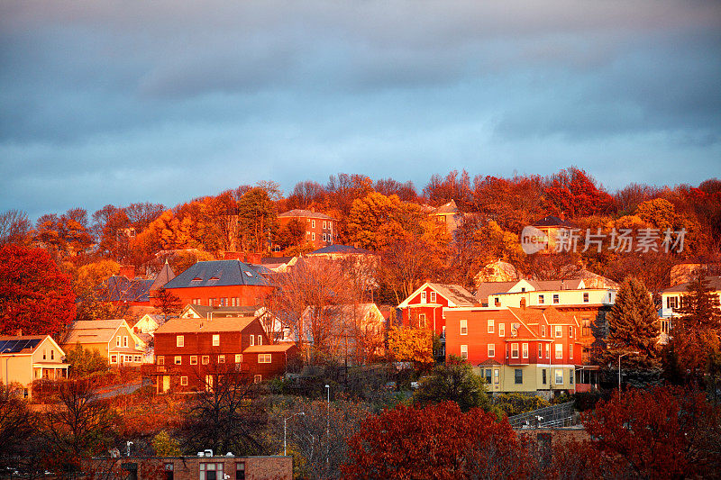
{"type": "Polygon", "coordinates": [[[146,347],[123,319],[74,322],[62,346],[75,349],[78,343],[98,350],[111,367],[140,367],[146,347]]]}

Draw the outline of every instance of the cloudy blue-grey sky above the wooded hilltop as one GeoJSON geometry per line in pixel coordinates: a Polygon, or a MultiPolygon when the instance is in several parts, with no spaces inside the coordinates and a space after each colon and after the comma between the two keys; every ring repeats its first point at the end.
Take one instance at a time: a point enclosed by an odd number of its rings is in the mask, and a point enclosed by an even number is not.
{"type": "Polygon", "coordinates": [[[0,2],[0,211],[570,165],[721,177],[720,2],[0,2]]]}

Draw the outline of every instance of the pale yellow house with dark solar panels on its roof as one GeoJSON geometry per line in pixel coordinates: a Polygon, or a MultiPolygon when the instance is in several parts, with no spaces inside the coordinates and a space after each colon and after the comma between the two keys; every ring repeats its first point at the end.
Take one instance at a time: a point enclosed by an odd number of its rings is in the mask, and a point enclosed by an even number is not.
{"type": "Polygon", "coordinates": [[[23,385],[25,396],[32,394],[35,380],[68,377],[65,352],[50,335],[0,336],[0,372],[3,383],[23,385]]]}

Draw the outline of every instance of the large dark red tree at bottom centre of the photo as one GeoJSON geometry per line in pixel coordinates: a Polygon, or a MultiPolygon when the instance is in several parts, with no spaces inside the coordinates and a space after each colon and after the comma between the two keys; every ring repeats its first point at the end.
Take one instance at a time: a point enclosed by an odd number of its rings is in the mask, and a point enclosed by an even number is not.
{"type": "Polygon", "coordinates": [[[487,478],[527,475],[531,465],[508,422],[457,403],[405,405],[366,421],[348,440],[343,478],[487,478]]]}

